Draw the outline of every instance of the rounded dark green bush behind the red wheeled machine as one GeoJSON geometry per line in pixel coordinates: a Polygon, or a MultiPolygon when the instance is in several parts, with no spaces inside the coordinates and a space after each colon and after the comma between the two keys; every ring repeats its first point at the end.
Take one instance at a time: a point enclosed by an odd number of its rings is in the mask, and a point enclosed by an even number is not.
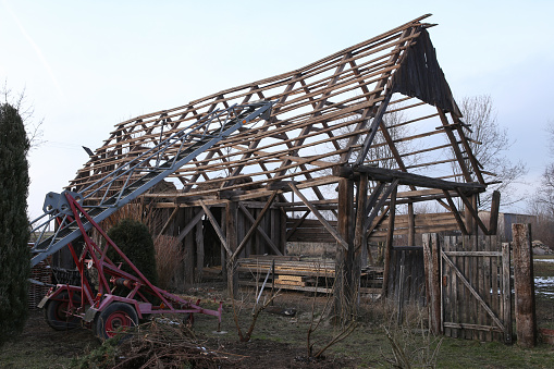
{"type": "MultiPolygon", "coordinates": [[[[156,249],[145,224],[136,220],[124,219],[108,232],[108,236],[152,284],[158,284],[156,249]]],[[[123,262],[113,248],[108,251],[108,257],[115,263],[123,262]]],[[[134,274],[125,262],[121,268],[134,274]]]]}

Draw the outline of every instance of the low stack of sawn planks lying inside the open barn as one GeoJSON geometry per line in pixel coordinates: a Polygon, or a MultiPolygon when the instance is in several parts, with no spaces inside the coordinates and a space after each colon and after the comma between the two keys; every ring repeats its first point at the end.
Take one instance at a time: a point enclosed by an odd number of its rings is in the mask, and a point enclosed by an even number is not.
{"type": "MultiPolygon", "coordinates": [[[[255,256],[239,259],[236,271],[239,275],[238,283],[246,286],[261,286],[268,278],[266,288],[331,293],[335,262],[330,259],[300,260],[300,257],[255,256]]],[[[362,269],[360,293],[381,293],[382,275],[382,267],[362,269]]]]}

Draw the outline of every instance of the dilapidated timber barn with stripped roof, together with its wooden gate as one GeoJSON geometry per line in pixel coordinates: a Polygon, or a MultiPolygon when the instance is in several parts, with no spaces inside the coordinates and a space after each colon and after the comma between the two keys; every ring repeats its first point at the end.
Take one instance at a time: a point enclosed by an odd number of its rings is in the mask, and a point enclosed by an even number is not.
{"type": "Polygon", "coordinates": [[[233,290],[253,269],[272,270],[274,284],[293,290],[330,288],[321,281],[332,278],[335,304],[348,313],[359,293],[379,293],[434,304],[435,315],[446,309],[438,330],[450,335],[507,340],[509,268],[508,280],[498,274],[506,250],[494,237],[500,194],[483,223],[479,195],[492,173],[471,151],[471,127],[439,65],[428,16],[297,70],[118,123],[67,188],[86,195],[98,179],[218,109],[272,101],[267,119],[248,122],[130,205],[153,236],[180,243],[174,287],[208,270],[233,290]],[[442,211],[422,211],[428,202],[442,211]],[[287,245],[307,243],[333,244],[332,259],[287,256],[287,245]],[[443,284],[440,262],[450,284],[433,295],[443,284]],[[463,300],[483,313],[456,312],[463,300]]]}

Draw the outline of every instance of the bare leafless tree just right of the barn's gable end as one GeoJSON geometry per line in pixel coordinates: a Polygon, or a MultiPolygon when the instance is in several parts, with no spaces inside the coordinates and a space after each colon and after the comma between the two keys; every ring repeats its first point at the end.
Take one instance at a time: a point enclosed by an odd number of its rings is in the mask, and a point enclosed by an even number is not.
{"type": "Polygon", "coordinates": [[[490,207],[494,190],[502,193],[504,206],[520,201],[522,197],[515,194],[514,185],[521,181],[527,169],[524,162],[512,162],[507,157],[514,142],[508,137],[507,128],[498,124],[491,97],[489,95],[465,97],[460,110],[464,123],[470,126],[466,132],[469,145],[484,169],[483,174],[489,183],[487,193],[481,195],[479,208],[490,207]]]}

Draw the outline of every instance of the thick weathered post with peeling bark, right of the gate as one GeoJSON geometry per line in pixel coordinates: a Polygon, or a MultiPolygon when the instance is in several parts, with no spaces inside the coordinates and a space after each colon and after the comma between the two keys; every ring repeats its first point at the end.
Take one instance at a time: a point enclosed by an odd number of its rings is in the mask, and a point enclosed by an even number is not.
{"type": "Polygon", "coordinates": [[[512,235],[517,343],[530,348],[537,343],[531,224],[512,224],[512,235]]]}

